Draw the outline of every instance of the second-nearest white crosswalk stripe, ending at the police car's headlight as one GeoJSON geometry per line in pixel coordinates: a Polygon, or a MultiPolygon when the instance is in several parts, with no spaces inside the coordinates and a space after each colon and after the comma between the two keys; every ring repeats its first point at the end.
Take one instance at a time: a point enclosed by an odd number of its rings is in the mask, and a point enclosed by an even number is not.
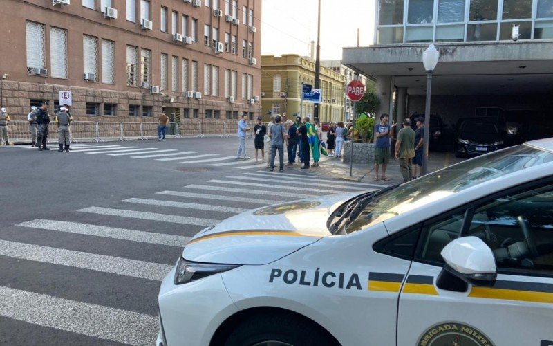
{"type": "Polygon", "coordinates": [[[0,240],[0,255],[158,281],[161,281],[171,271],[171,266],[167,264],[128,260],[121,257],[7,240],[0,240]]]}

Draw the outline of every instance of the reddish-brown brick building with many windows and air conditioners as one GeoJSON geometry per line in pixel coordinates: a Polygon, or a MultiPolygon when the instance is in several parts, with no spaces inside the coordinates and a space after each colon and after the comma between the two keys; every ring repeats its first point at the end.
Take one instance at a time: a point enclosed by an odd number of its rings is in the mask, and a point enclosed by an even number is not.
{"type": "Polygon", "coordinates": [[[216,124],[261,111],[261,0],[4,2],[1,103],[16,120],[42,100],[57,106],[59,91],[77,120],[153,121],[165,109],[216,124]]]}

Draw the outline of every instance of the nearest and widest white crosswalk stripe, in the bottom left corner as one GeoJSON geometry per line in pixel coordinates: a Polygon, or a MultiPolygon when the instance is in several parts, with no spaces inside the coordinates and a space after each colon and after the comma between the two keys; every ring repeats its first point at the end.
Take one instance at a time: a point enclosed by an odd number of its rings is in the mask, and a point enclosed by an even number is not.
{"type": "MultiPolygon", "coordinates": [[[[158,318],[0,286],[0,316],[116,343],[153,345],[158,318]]],[[[102,344],[101,340],[97,340],[102,344]]]]}

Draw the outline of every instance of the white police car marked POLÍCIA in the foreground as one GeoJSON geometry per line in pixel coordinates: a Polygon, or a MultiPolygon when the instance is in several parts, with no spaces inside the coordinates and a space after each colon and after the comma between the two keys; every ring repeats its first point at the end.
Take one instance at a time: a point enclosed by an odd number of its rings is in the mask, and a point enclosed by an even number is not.
{"type": "Polygon", "coordinates": [[[158,345],[553,345],[553,139],[245,212],[163,280],[158,345]]]}

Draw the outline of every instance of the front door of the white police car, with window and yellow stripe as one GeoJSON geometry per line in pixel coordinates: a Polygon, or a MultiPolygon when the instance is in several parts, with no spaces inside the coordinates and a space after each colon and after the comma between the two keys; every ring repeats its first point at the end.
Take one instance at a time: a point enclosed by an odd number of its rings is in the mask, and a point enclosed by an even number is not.
{"type": "Polygon", "coordinates": [[[424,223],[400,294],[397,345],[553,346],[552,181],[424,223]],[[491,249],[496,280],[469,284],[454,270],[442,272],[444,246],[467,236],[491,249]]]}

